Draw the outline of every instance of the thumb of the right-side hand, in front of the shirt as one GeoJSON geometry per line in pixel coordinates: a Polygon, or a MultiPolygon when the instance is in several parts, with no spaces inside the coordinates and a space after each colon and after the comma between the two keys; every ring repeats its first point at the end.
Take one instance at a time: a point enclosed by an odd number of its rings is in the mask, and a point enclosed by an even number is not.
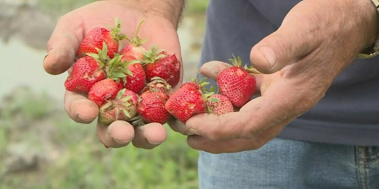
{"type": "Polygon", "coordinates": [[[299,7],[302,5],[296,6],[287,14],[277,31],[252,48],[250,60],[258,71],[275,73],[286,65],[297,62],[320,45],[317,23],[304,15],[309,12],[299,7]]]}

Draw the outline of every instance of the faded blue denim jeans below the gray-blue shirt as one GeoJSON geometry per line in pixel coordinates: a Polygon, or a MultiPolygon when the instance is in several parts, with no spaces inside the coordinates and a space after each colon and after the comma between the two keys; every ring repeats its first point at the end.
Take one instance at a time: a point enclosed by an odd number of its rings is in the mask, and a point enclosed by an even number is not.
{"type": "Polygon", "coordinates": [[[373,146],[276,138],[258,150],[200,152],[198,168],[200,189],[379,189],[373,146]]]}

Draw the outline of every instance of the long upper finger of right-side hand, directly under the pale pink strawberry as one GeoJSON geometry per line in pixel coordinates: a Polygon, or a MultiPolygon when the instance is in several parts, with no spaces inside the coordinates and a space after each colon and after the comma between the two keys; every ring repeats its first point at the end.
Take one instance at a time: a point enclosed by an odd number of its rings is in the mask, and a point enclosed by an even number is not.
{"type": "Polygon", "coordinates": [[[312,94],[293,86],[296,85],[288,80],[277,81],[266,89],[263,96],[249,101],[239,112],[219,116],[194,115],[186,121],[186,130],[213,141],[254,138],[269,127],[291,116],[298,116],[316,104],[312,94]],[[294,91],[297,91],[296,95],[294,91]]]}

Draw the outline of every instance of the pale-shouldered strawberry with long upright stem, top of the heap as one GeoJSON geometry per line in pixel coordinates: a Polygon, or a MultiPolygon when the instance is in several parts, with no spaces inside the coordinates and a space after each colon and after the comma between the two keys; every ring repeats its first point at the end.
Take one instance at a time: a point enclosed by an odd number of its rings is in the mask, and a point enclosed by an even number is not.
{"type": "Polygon", "coordinates": [[[143,59],[143,54],[146,52],[146,48],[142,46],[142,44],[145,43],[146,40],[141,39],[137,36],[138,30],[144,21],[145,19],[142,19],[141,22],[139,22],[139,25],[135,30],[133,39],[126,38],[129,42],[129,45],[125,46],[121,50],[121,54],[124,55],[124,57],[128,57],[128,61],[141,60],[143,59]]]}

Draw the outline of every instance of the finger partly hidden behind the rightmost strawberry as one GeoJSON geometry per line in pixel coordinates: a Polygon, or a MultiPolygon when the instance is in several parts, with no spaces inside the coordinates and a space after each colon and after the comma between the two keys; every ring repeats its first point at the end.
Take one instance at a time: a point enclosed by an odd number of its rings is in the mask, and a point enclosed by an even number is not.
{"type": "MultiPolygon", "coordinates": [[[[208,77],[210,79],[217,81],[218,75],[221,73],[221,71],[228,68],[228,66],[230,66],[230,64],[227,64],[226,62],[210,61],[210,62],[204,63],[200,67],[200,73],[204,75],[205,77],[208,77]]],[[[257,91],[259,91],[260,84],[262,83],[262,80],[263,80],[263,74],[254,74],[254,76],[256,79],[257,91]]]]}

